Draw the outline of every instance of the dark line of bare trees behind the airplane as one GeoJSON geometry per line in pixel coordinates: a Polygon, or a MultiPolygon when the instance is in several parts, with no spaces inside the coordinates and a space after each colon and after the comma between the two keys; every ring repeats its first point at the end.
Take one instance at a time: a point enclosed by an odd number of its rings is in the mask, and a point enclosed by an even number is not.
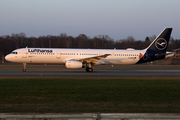
{"type": "MultiPolygon", "coordinates": [[[[145,40],[135,40],[133,36],[126,39],[113,40],[108,35],[98,35],[93,38],[80,34],[77,37],[61,33],[59,36],[26,37],[24,33],[0,36],[0,55],[6,55],[14,49],[25,47],[37,48],[90,48],[90,49],[144,49],[154,39],[155,35],[146,37],[145,40]]],[[[168,51],[180,48],[180,39],[171,37],[168,51]]]]}

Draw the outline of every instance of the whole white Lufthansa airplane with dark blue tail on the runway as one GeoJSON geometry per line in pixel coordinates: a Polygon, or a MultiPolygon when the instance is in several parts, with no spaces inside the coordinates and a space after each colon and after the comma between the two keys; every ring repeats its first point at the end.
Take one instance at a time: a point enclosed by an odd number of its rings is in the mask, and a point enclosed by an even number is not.
{"type": "Polygon", "coordinates": [[[69,49],[69,48],[20,48],[5,56],[10,62],[64,64],[66,68],[85,68],[93,72],[93,65],[132,65],[164,59],[173,55],[166,52],[172,28],[165,28],[143,50],[128,49],[69,49]]]}

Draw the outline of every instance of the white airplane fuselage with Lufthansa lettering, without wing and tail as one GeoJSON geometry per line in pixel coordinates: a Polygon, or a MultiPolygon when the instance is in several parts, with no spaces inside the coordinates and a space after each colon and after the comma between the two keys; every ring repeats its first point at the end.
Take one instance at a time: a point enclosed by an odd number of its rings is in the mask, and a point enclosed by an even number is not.
{"type": "Polygon", "coordinates": [[[107,49],[58,49],[58,48],[20,48],[8,54],[5,59],[17,63],[64,64],[72,59],[91,58],[110,54],[95,64],[136,64],[146,50],[107,50],[107,49]]]}

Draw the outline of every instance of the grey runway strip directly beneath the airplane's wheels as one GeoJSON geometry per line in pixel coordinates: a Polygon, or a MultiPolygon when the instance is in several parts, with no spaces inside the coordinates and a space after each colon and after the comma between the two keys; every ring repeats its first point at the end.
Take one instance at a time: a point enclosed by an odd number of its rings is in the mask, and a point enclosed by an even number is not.
{"type": "Polygon", "coordinates": [[[150,76],[180,77],[180,70],[0,70],[0,76],[150,76]]]}

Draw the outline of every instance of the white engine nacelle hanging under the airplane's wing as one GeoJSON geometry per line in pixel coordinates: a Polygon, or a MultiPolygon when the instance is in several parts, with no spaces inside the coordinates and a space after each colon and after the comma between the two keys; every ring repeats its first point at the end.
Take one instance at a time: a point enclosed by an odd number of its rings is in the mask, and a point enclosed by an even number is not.
{"type": "Polygon", "coordinates": [[[82,62],[79,62],[79,61],[66,61],[65,62],[65,67],[66,68],[82,68],[83,67],[83,64],[82,62]]]}

